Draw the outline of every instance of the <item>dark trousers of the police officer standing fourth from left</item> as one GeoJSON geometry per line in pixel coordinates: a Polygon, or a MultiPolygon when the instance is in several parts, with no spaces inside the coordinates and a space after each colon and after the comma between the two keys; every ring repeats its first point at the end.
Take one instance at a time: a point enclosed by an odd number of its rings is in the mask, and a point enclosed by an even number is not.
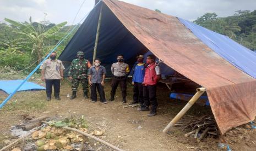
{"type": "Polygon", "coordinates": [[[112,83],[111,83],[111,96],[115,96],[116,94],[116,89],[117,89],[117,86],[118,84],[120,84],[120,88],[121,88],[121,91],[122,91],[122,96],[123,98],[126,97],[126,88],[127,88],[127,85],[126,85],[126,78],[113,78],[112,79],[112,83]]]}

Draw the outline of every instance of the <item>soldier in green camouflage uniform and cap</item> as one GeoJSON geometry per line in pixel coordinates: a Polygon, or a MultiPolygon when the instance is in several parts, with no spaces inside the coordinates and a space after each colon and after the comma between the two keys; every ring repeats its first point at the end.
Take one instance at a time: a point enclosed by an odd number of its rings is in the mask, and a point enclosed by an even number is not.
{"type": "Polygon", "coordinates": [[[88,98],[88,71],[91,67],[91,63],[89,60],[84,59],[83,51],[78,51],[77,57],[78,59],[72,61],[68,72],[68,77],[72,80],[72,96],[70,97],[70,100],[77,97],[79,82],[81,82],[83,87],[84,98],[88,98]]]}

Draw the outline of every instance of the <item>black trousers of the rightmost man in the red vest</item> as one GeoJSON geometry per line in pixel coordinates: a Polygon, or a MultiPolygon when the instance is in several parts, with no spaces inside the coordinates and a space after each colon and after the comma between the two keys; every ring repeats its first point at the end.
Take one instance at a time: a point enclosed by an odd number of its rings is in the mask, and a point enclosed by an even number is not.
{"type": "Polygon", "coordinates": [[[156,85],[143,86],[143,100],[144,106],[148,107],[151,103],[152,111],[156,112],[156,108],[158,106],[156,100],[156,85]]]}

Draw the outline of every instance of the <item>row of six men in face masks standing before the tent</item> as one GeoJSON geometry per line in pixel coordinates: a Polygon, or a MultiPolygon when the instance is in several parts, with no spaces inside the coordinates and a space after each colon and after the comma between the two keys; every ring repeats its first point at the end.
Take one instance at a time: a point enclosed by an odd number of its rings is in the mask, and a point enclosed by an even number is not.
{"type": "MultiPolygon", "coordinates": [[[[50,55],[41,65],[41,79],[46,83],[47,101],[51,100],[52,85],[54,87],[54,96],[56,100],[61,100],[59,97],[60,82],[63,79],[63,70],[65,69],[62,61],[56,59],[56,53],[50,55]]],[[[157,100],[156,100],[156,84],[160,79],[160,67],[156,65],[154,55],[148,55],[146,63],[143,62],[144,56],[137,56],[137,65],[133,69],[133,102],[140,103],[138,111],[149,111],[151,102],[151,111],[148,116],[156,115],[157,100]]],[[[83,88],[84,98],[88,97],[89,86],[91,88],[91,102],[97,101],[97,91],[99,92],[100,102],[107,103],[104,92],[106,69],[100,65],[100,59],[95,59],[93,65],[89,60],[84,59],[83,51],[78,51],[77,59],[74,59],[70,65],[68,77],[72,80],[72,96],[70,99],[77,97],[77,89],[79,83],[83,88]]],[[[117,62],[111,66],[113,79],[111,83],[111,97],[109,101],[115,100],[116,89],[118,85],[122,91],[122,101],[127,103],[127,84],[126,80],[130,72],[129,65],[124,63],[124,56],[118,55],[117,62]]]]}

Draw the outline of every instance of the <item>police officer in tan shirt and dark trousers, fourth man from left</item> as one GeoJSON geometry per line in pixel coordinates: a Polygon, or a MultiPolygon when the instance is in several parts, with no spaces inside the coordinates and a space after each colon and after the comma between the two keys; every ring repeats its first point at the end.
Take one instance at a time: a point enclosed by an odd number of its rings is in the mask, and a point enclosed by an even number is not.
{"type": "Polygon", "coordinates": [[[114,75],[112,79],[111,84],[111,98],[110,101],[113,101],[116,94],[116,89],[118,84],[120,84],[121,91],[122,91],[122,97],[123,97],[123,103],[126,103],[126,78],[128,73],[130,72],[129,66],[127,63],[123,62],[123,55],[117,56],[117,62],[113,63],[111,66],[111,72],[114,75]]]}

